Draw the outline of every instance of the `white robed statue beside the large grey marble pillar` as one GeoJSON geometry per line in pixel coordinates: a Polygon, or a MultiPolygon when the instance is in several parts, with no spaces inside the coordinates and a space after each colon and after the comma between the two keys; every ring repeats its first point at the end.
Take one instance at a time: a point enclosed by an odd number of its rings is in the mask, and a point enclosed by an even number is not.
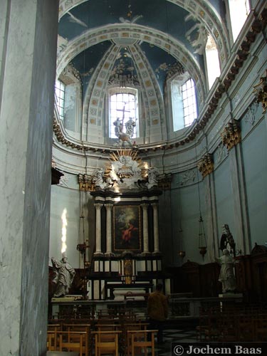
{"type": "Polygon", "coordinates": [[[67,259],[66,256],[63,256],[61,261],[56,261],[54,257],[51,258],[53,270],[55,272],[52,283],[56,284],[56,289],[53,293],[54,297],[61,297],[68,294],[68,290],[70,290],[70,286],[73,283],[75,269],[70,266],[67,259]]]}

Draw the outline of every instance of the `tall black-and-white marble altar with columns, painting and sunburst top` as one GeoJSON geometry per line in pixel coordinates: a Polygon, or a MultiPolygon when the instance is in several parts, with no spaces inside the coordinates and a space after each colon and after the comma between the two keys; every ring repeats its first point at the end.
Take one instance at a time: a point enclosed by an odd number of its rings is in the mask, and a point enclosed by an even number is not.
{"type": "Polygon", "coordinates": [[[147,167],[137,150],[112,153],[111,164],[95,172],[95,252],[90,300],[144,300],[157,283],[170,293],[159,249],[159,172],[147,167]],[[103,224],[105,221],[105,224],[103,224]],[[105,230],[103,231],[103,226],[105,230]],[[123,290],[123,293],[122,293],[123,290]]]}

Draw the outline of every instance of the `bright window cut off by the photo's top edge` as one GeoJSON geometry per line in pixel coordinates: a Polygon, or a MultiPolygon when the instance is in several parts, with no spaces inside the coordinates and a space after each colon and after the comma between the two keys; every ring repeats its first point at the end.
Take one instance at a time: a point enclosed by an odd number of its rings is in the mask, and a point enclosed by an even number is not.
{"type": "Polygon", "coordinates": [[[239,32],[250,11],[249,0],[229,0],[229,12],[234,41],[236,41],[237,36],[239,36],[239,32]]]}

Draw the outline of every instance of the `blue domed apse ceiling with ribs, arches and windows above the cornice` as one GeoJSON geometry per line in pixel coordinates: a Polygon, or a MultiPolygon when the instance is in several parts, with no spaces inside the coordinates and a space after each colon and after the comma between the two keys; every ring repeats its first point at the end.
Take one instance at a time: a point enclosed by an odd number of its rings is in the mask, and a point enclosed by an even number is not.
{"type": "Polygon", "coordinates": [[[216,50],[218,70],[224,69],[229,58],[231,35],[224,3],[74,3],[60,2],[56,78],[63,85],[65,99],[61,115],[58,111],[62,108],[55,110],[57,141],[74,151],[103,152],[127,145],[127,137],[117,140],[117,117],[123,125],[129,117],[135,120],[128,143],[135,142],[140,150],[195,137],[204,125],[202,117],[212,98],[207,43],[216,50]],[[177,90],[181,97],[181,85],[189,79],[195,109],[192,112],[189,101],[190,118],[184,124],[182,103],[175,101],[172,92],[177,90]],[[134,101],[134,108],[128,105],[128,98],[134,101]],[[110,100],[122,103],[112,106],[110,100]]]}

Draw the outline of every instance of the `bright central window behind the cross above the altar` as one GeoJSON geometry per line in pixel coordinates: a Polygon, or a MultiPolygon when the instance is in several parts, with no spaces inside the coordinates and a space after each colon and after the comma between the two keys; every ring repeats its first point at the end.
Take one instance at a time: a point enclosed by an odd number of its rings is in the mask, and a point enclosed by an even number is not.
{"type": "Polygon", "coordinates": [[[122,132],[127,132],[127,122],[134,122],[134,130],[130,137],[135,138],[139,132],[138,95],[134,88],[112,88],[109,93],[109,136],[117,138],[114,122],[119,121],[122,132]]]}

